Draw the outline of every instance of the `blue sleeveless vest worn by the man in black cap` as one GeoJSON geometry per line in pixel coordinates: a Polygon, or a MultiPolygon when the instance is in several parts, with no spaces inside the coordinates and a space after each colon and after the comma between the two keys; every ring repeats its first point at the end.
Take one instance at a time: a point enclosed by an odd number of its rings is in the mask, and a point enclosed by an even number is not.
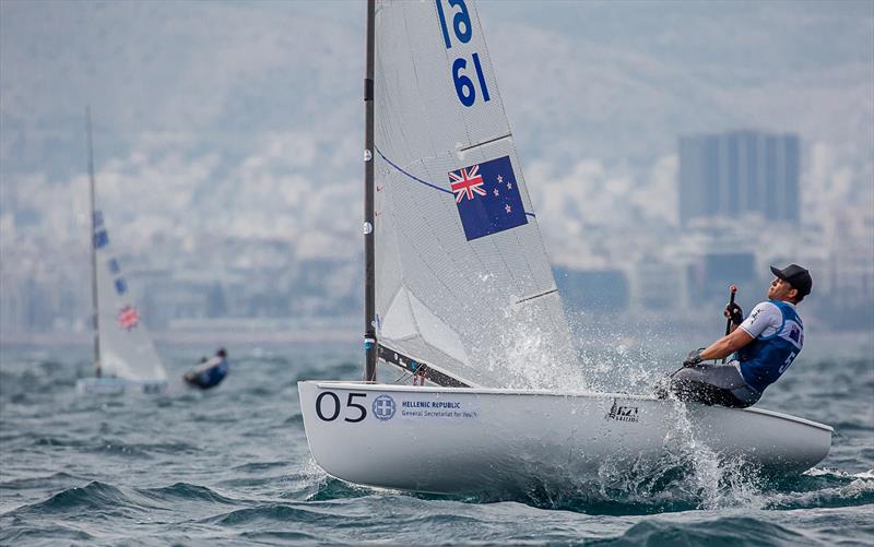
{"type": "Polygon", "coordinates": [[[770,336],[757,337],[736,354],[741,376],[759,393],[786,372],[804,345],[804,324],[795,309],[779,300],[770,302],[782,313],[782,324],[770,336]]]}

